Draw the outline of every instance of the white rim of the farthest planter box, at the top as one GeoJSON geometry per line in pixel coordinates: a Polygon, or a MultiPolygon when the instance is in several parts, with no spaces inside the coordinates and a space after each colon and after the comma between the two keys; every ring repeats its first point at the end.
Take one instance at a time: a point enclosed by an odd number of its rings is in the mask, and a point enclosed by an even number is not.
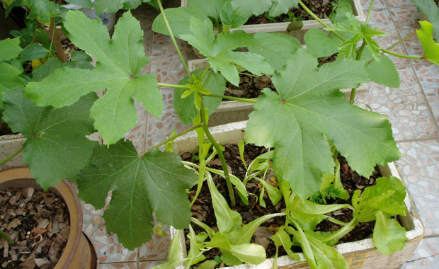
{"type": "MultiPolygon", "coordinates": [[[[363,8],[361,7],[360,0],[350,0],[352,3],[352,9],[353,13],[355,15],[355,18],[358,18],[359,21],[362,23],[366,22],[365,14],[363,13],[363,8]]],[[[181,0],[181,6],[189,6],[187,0],[181,0]]],[[[329,21],[328,18],[324,18],[321,21],[323,21],[326,24],[331,24],[331,21],[329,21]]],[[[309,21],[302,21],[303,27],[300,30],[295,30],[292,32],[287,32],[287,27],[290,24],[290,22],[286,23],[263,23],[263,24],[250,24],[250,25],[242,25],[237,28],[231,29],[231,31],[234,30],[244,30],[246,33],[287,33],[288,35],[292,35],[295,38],[297,38],[302,44],[304,44],[303,36],[305,33],[307,33],[307,30],[312,28],[324,28],[323,25],[321,25],[316,20],[309,20],[309,21]]]]}

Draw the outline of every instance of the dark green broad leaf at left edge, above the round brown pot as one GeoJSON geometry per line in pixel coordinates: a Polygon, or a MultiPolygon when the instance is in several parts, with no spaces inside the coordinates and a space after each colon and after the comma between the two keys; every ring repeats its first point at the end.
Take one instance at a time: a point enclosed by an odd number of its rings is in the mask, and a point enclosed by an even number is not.
{"type": "Polygon", "coordinates": [[[97,97],[90,93],[73,105],[55,109],[38,107],[23,94],[19,88],[4,93],[4,120],[26,138],[23,160],[47,190],[62,178],[74,178],[91,161],[98,142],[86,135],[94,131],[89,110],[97,97]]]}

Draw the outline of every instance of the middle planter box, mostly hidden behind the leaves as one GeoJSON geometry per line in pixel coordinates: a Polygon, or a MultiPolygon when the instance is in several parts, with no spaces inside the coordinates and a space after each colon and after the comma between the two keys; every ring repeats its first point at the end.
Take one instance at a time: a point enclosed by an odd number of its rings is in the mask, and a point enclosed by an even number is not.
{"type": "MultiPolygon", "coordinates": [[[[207,59],[193,59],[188,61],[189,71],[196,69],[205,69],[207,59]]],[[[346,101],[350,100],[350,88],[342,88],[341,91],[346,94],[346,101]]],[[[367,84],[361,84],[356,93],[368,93],[367,84]]],[[[249,120],[249,115],[253,111],[253,103],[244,103],[239,101],[222,101],[215,113],[209,117],[209,126],[224,125],[230,122],[239,122],[249,120]]]]}

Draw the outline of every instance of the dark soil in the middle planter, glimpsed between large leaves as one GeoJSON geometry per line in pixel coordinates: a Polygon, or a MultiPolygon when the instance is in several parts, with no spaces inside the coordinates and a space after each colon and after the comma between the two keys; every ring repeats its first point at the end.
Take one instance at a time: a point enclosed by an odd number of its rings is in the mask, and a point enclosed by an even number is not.
{"type": "MultiPolygon", "coordinates": [[[[319,59],[319,67],[322,64],[333,62],[337,59],[336,55],[329,57],[321,57],[319,59]]],[[[227,82],[225,96],[239,97],[239,98],[258,98],[262,94],[263,88],[270,88],[275,91],[270,76],[254,76],[252,74],[239,74],[239,86],[227,82]]],[[[223,99],[222,101],[227,101],[223,99]]]]}

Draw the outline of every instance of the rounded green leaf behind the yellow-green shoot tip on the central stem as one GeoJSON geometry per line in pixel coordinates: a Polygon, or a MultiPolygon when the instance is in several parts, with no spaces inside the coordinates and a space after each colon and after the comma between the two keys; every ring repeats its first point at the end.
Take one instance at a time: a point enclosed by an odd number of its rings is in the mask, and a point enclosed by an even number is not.
{"type": "MultiPolygon", "coordinates": [[[[203,74],[203,70],[195,70],[190,73],[191,75],[201,76],[203,74]]],[[[206,76],[203,79],[204,88],[207,88],[211,93],[217,95],[223,95],[226,90],[226,81],[220,74],[215,74],[212,71],[208,71],[206,76]]],[[[180,85],[186,85],[190,82],[189,76],[186,76],[184,79],[178,82],[180,85]]],[[[194,94],[190,94],[190,96],[186,96],[185,98],[181,98],[181,95],[188,91],[184,88],[174,88],[173,90],[173,104],[174,108],[177,112],[178,118],[184,124],[190,125],[192,124],[195,117],[198,115],[199,110],[195,107],[195,96],[194,94]]],[[[218,106],[221,103],[221,98],[213,98],[213,97],[205,97],[204,104],[205,108],[207,108],[207,113],[211,115],[217,110],[218,106]]]]}

